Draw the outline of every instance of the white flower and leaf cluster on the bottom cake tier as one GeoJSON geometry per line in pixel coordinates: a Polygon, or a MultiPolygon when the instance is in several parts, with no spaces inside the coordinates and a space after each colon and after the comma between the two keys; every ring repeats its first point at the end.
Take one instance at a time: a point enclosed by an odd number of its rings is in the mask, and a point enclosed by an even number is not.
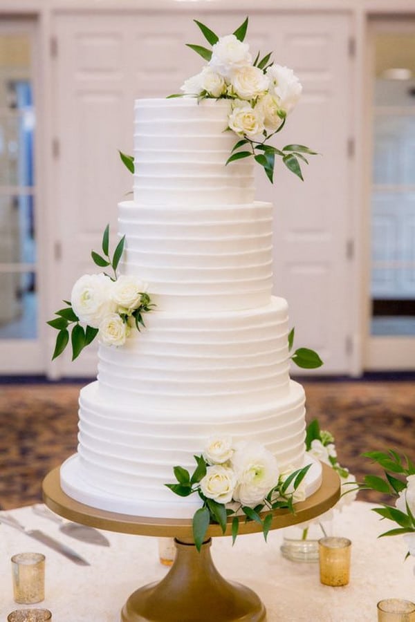
{"type": "Polygon", "coordinates": [[[183,466],[174,467],[177,483],[165,484],[181,497],[198,494],[203,503],[193,517],[194,543],[201,549],[211,522],[223,534],[232,518],[232,542],[237,538],[239,520],[255,520],[264,538],[273,522],[272,510],[288,508],[306,497],[304,478],[310,464],[302,469],[279,469],[273,453],[257,442],[234,443],[227,435],[210,437],[202,455],[195,455],[192,475],[183,466]]]}

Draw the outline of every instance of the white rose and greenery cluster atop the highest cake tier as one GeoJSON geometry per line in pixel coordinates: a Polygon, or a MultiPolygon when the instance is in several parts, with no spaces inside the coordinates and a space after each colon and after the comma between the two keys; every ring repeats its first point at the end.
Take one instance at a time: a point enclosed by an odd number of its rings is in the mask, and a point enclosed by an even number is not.
{"type": "Polygon", "coordinates": [[[181,94],[170,97],[197,97],[231,100],[228,129],[239,140],[232,149],[229,162],[253,156],[264,167],[273,182],[275,156],[302,179],[300,161],[308,164],[304,154],[315,155],[301,144],[288,144],[282,149],[268,144],[281,131],[286,116],[291,113],[302,93],[302,84],[291,68],[275,64],[272,53],[252,59],[250,46],[245,42],[248,17],[231,35],[218,37],[208,26],[194,20],[211,44],[187,44],[207,62],[202,70],[185,80],[181,94]]]}

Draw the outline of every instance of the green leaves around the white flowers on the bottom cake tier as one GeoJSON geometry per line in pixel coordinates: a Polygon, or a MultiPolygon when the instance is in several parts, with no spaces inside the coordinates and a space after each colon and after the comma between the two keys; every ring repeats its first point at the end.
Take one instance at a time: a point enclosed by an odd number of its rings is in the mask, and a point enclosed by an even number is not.
{"type": "Polygon", "coordinates": [[[222,533],[225,534],[228,528],[228,520],[230,521],[231,518],[232,545],[239,533],[240,520],[245,520],[245,522],[254,520],[261,525],[266,540],[273,522],[273,510],[288,509],[291,513],[295,513],[294,493],[304,480],[311,466],[311,464],[308,464],[302,469],[294,471],[285,479],[280,476],[275,487],[269,491],[264,501],[256,507],[252,508],[232,501],[231,509],[203,494],[200,483],[207,473],[209,464],[203,458],[203,455],[195,455],[194,460],[196,460],[196,468],[192,475],[183,466],[175,466],[174,475],[177,483],[165,484],[165,486],[181,497],[188,497],[196,493],[203,501],[202,507],[196,510],[192,520],[194,543],[198,551],[200,551],[205,541],[209,525],[211,523],[219,525],[222,533]]]}

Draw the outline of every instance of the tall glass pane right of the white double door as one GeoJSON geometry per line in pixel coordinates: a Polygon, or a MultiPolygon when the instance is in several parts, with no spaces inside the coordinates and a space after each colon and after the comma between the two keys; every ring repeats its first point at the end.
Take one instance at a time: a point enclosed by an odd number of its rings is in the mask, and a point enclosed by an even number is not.
{"type": "Polygon", "coordinates": [[[371,334],[415,336],[415,28],[375,52],[371,334]]]}

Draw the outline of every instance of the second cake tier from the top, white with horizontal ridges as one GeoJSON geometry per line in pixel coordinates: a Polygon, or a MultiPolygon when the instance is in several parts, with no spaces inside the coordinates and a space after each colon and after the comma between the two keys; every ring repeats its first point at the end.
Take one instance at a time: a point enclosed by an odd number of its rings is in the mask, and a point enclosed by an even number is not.
{"type": "Polygon", "coordinates": [[[239,310],[270,301],[272,205],[169,210],[118,205],[126,245],[120,270],[149,283],[159,310],[239,310]]]}

